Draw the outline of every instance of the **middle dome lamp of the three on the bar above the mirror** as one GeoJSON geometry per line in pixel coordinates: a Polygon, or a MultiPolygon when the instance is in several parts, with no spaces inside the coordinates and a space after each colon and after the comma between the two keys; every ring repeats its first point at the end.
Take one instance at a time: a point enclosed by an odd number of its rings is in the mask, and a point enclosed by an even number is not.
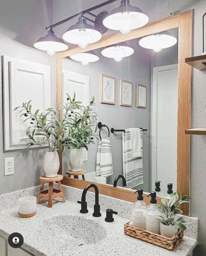
{"type": "Polygon", "coordinates": [[[99,41],[101,33],[94,26],[89,25],[84,17],[80,16],[78,22],[68,28],[62,37],[68,43],[78,44],[79,47],[85,48],[88,44],[99,41]]]}

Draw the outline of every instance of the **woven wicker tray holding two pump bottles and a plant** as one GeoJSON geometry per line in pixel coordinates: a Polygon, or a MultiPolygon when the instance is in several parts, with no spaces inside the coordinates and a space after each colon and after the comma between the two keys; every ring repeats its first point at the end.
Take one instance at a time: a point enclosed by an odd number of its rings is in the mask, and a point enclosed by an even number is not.
{"type": "Polygon", "coordinates": [[[141,239],[151,244],[156,244],[168,250],[174,250],[184,236],[184,230],[179,230],[172,238],[164,237],[141,228],[133,227],[130,222],[131,221],[124,224],[125,235],[130,235],[131,237],[141,239]]]}

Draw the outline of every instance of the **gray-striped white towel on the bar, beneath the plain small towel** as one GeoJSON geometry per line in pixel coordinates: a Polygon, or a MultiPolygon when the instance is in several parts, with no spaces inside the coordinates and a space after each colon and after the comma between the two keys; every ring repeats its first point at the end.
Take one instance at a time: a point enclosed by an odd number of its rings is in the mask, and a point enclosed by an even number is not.
{"type": "MultiPolygon", "coordinates": [[[[143,132],[141,133],[141,144],[143,132]]],[[[141,147],[142,148],[142,147],[141,147]]],[[[142,149],[143,150],[143,149],[142,149]]],[[[132,157],[131,133],[125,129],[122,133],[122,153],[123,153],[123,174],[126,179],[127,188],[133,188],[143,183],[143,164],[141,157],[132,157]]]]}

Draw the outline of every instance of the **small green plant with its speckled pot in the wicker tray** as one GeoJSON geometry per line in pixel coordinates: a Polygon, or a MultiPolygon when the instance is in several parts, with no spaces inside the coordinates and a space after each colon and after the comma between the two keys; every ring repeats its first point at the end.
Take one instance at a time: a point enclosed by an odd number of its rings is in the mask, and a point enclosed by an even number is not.
{"type": "Polygon", "coordinates": [[[161,216],[156,216],[161,219],[160,222],[160,234],[172,238],[179,230],[186,230],[184,222],[189,220],[186,216],[181,216],[177,220],[175,217],[177,214],[182,214],[182,211],[179,209],[181,204],[188,203],[191,197],[189,195],[180,196],[177,192],[171,194],[172,198],[168,201],[165,198],[161,199],[162,204],[157,204],[156,209],[163,213],[161,216]]]}

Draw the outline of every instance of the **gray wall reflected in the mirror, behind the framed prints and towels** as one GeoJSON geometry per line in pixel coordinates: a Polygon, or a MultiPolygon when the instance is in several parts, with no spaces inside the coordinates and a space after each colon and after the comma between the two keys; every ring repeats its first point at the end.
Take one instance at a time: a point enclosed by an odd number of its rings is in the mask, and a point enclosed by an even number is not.
{"type": "MultiPolygon", "coordinates": [[[[124,129],[130,127],[143,127],[148,129],[143,133],[143,178],[144,183],[138,186],[146,192],[150,192],[150,101],[151,101],[151,56],[147,50],[142,50],[138,46],[138,40],[129,42],[129,45],[135,49],[135,53],[129,57],[123,58],[119,63],[114,59],[109,59],[101,55],[100,50],[96,54],[100,57],[96,63],[89,63],[83,66],[80,62],[68,58],[63,59],[63,69],[77,72],[90,77],[90,98],[95,96],[97,106],[98,122],[106,124],[109,129],[124,129]],[[116,99],[115,105],[100,103],[100,74],[106,74],[116,77],[116,99]],[[131,81],[133,83],[132,107],[119,105],[120,79],[131,81]],[[136,108],[136,84],[147,86],[147,108],[136,108]]],[[[78,99],[77,99],[78,100],[78,99]]],[[[107,132],[107,129],[104,129],[107,132]]],[[[99,133],[99,130],[97,131],[99,133]]],[[[107,133],[108,134],[108,133],[107,133]]],[[[101,132],[101,137],[107,137],[107,134],[101,132]]],[[[113,159],[113,175],[107,178],[107,183],[113,184],[117,175],[123,175],[122,167],[122,133],[110,133],[113,159]]],[[[83,169],[87,172],[96,170],[96,144],[89,145],[88,161],[83,163],[83,169]]],[[[65,147],[63,152],[63,170],[68,170],[69,150],[65,147]]],[[[122,185],[119,181],[118,185],[122,185]]]]}

